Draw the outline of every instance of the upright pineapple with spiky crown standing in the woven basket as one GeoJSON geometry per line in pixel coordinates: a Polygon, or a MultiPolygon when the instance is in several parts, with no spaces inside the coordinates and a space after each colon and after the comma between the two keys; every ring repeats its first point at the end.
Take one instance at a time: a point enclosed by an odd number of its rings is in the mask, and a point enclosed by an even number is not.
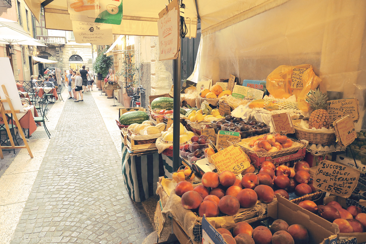
{"type": "Polygon", "coordinates": [[[310,96],[307,96],[310,108],[312,110],[309,118],[309,127],[321,129],[325,127],[329,129],[329,114],[326,111],[328,107],[328,95],[322,93],[320,89],[310,90],[310,96]]]}

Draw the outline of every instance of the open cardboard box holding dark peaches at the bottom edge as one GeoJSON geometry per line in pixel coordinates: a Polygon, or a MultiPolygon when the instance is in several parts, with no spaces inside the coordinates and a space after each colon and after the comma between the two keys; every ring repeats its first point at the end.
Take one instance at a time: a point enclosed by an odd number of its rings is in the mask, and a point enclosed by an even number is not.
{"type": "MultiPolygon", "coordinates": [[[[289,225],[301,224],[309,233],[309,244],[328,244],[337,242],[339,229],[334,224],[299,207],[283,197],[268,204],[268,217],[283,219],[289,225]],[[312,214],[312,215],[309,215],[312,214]]],[[[206,218],[202,219],[202,244],[226,244],[223,237],[206,218]]]]}

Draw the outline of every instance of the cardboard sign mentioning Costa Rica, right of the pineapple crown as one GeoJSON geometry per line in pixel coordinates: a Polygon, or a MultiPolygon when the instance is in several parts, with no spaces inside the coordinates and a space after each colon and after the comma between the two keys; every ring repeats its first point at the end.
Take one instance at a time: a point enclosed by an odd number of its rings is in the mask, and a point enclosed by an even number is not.
{"type": "Polygon", "coordinates": [[[355,98],[346,98],[339,100],[329,100],[328,101],[328,114],[330,122],[336,121],[343,116],[349,114],[353,121],[358,121],[359,102],[355,98]]]}

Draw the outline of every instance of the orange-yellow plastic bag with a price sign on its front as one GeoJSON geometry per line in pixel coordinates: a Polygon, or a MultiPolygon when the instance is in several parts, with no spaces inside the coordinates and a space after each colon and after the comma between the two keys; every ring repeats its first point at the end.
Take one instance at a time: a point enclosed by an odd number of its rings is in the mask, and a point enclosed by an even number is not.
{"type": "Polygon", "coordinates": [[[315,75],[313,66],[302,64],[298,66],[281,65],[267,77],[268,92],[275,98],[288,98],[296,96],[298,108],[309,111],[309,104],[305,101],[310,89],[315,90],[321,79],[315,75]]]}

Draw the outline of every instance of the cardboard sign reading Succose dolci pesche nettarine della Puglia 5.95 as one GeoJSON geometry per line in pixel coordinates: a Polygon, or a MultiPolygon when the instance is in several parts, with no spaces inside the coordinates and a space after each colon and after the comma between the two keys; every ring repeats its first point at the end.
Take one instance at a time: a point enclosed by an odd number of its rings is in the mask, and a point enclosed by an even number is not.
{"type": "Polygon", "coordinates": [[[323,160],[314,174],[314,187],[348,198],[355,189],[360,171],[343,164],[323,160]]]}

